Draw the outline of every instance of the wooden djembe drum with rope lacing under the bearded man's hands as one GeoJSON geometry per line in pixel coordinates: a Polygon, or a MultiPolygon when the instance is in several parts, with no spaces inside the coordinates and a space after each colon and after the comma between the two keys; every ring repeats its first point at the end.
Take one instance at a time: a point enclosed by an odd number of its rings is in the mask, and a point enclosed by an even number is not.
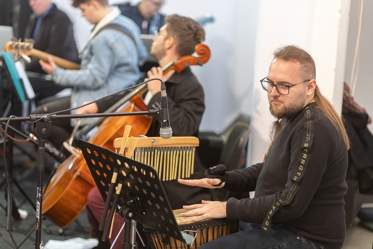
{"type": "Polygon", "coordinates": [[[187,212],[186,209],[174,210],[176,221],[182,232],[194,237],[195,240],[187,245],[167,235],[143,226],[149,244],[154,249],[195,249],[203,244],[221,236],[230,235],[238,231],[238,221],[224,219],[211,219],[192,223],[193,217],[182,217],[180,214],[187,212]]]}

